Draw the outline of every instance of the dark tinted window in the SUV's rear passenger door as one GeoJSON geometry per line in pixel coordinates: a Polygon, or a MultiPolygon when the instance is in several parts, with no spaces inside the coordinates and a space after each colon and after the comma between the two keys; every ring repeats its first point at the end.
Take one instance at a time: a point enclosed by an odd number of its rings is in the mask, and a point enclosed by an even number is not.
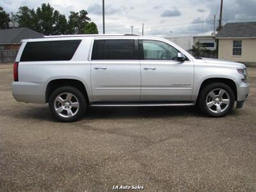
{"type": "Polygon", "coordinates": [[[134,40],[95,40],[92,60],[135,60],[134,40]]]}

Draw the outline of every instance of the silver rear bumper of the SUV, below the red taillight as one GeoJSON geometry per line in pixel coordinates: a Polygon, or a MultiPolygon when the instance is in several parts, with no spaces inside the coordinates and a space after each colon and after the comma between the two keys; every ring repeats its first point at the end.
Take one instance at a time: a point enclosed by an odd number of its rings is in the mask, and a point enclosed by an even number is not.
{"type": "Polygon", "coordinates": [[[38,83],[13,81],[12,95],[19,102],[45,103],[44,88],[38,83]]]}

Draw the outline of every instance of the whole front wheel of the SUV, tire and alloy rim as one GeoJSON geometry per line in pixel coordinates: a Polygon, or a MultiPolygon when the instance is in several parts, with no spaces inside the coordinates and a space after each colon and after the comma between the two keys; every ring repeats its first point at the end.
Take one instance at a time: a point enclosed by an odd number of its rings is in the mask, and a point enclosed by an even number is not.
{"type": "Polygon", "coordinates": [[[208,84],[200,93],[198,100],[201,111],[213,117],[227,115],[233,108],[234,102],[234,92],[224,83],[208,84]]]}

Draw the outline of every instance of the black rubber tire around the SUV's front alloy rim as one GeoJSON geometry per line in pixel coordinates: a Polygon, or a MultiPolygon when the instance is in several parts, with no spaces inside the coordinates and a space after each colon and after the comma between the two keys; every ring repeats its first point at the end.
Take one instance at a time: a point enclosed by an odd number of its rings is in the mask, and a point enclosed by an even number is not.
{"type": "MultiPolygon", "coordinates": [[[[218,94],[218,93],[217,93],[218,94]]],[[[218,96],[218,95],[217,95],[218,96]]],[[[222,117],[227,115],[232,108],[234,107],[234,102],[235,102],[235,95],[234,92],[232,91],[232,89],[230,88],[230,86],[228,86],[225,83],[211,83],[211,84],[207,84],[201,91],[198,97],[198,106],[200,108],[200,110],[202,111],[202,113],[204,113],[204,115],[207,116],[212,116],[212,117],[222,117]],[[223,95],[223,97],[226,97],[225,100],[228,100],[228,96],[229,96],[229,104],[222,104],[222,101],[224,100],[222,97],[221,99],[218,97],[217,101],[220,102],[216,102],[216,100],[209,100],[209,102],[213,102],[214,106],[212,106],[211,108],[207,107],[207,99],[211,99],[211,96],[209,97],[208,94],[210,94],[212,91],[214,91],[214,93],[218,92],[219,90],[225,90],[225,95],[223,95]],[[228,93],[228,94],[227,94],[228,93]],[[223,111],[218,111],[217,110],[217,106],[215,105],[220,105],[223,108],[223,111]],[[215,108],[215,109],[214,109],[215,108]],[[215,113],[212,111],[216,111],[215,113]]]]}

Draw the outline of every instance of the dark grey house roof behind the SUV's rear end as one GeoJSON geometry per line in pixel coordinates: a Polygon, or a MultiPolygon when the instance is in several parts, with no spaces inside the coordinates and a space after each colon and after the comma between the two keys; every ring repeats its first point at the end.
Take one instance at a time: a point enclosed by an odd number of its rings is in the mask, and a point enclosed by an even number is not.
{"type": "Polygon", "coordinates": [[[35,38],[44,36],[28,28],[12,28],[0,30],[0,44],[20,44],[20,40],[25,38],[35,38]]]}

